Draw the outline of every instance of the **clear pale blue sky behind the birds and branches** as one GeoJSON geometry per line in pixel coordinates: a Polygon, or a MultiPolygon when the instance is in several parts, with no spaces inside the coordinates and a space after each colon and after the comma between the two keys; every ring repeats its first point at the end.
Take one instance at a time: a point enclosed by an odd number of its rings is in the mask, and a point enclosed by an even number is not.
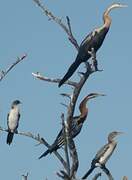
{"type": "MultiPolygon", "coordinates": [[[[80,43],[87,33],[102,24],[102,13],[112,2],[46,0],[45,5],[63,20],[67,15],[70,17],[74,35],[80,43]]],[[[90,167],[96,151],[106,143],[107,134],[120,130],[125,134],[118,138],[118,147],[107,167],[116,180],[123,175],[132,179],[132,1],[122,0],[120,3],[129,7],[111,13],[111,29],[97,54],[99,67],[104,71],[91,75],[78,101],[90,92],[107,94],[89,102],[89,116],[75,140],[80,159],[78,177],[90,167]]],[[[23,104],[19,130],[40,133],[52,143],[61,128],[60,115],[66,112],[60,105],[66,100],[59,94],[71,92],[71,89],[66,86],[59,89],[56,84],[36,80],[31,73],[39,71],[48,77],[61,78],[77,52],[63,30],[48,21],[32,0],[1,1],[0,22],[0,69],[14,62],[17,56],[28,54],[27,59],[0,84],[0,125],[6,127],[10,104],[14,99],[20,99],[23,104]]],[[[72,79],[77,77],[76,74],[72,79]]],[[[0,135],[0,179],[18,180],[26,172],[30,173],[29,180],[58,179],[55,173],[61,166],[54,155],[37,159],[46,150],[45,146],[35,147],[34,140],[16,135],[9,147],[6,136],[6,133],[0,135]]]]}

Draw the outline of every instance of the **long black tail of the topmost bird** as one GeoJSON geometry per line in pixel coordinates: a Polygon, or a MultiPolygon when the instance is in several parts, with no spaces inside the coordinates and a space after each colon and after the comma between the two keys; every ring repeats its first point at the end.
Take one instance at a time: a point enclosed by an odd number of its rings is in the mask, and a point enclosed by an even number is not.
{"type": "Polygon", "coordinates": [[[80,65],[80,61],[74,61],[74,63],[72,63],[72,65],[69,67],[67,73],[65,74],[65,76],[61,79],[61,81],[59,82],[59,87],[62,86],[62,84],[64,84],[72,75],[73,73],[76,71],[76,69],[78,68],[78,66],[80,65]]]}

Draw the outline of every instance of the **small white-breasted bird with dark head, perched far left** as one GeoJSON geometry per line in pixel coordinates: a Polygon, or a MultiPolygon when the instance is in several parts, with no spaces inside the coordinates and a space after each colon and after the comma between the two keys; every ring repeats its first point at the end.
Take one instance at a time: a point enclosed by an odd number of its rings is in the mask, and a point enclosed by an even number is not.
{"type": "Polygon", "coordinates": [[[6,142],[9,145],[12,143],[14,133],[17,132],[17,128],[19,125],[19,119],[20,119],[19,104],[21,104],[19,100],[13,101],[11,105],[11,110],[7,116],[8,135],[6,142]]]}

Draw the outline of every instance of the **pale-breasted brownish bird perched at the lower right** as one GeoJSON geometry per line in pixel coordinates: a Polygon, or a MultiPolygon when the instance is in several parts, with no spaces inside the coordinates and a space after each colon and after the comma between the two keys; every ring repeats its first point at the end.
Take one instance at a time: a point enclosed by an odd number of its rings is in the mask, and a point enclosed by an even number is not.
{"type": "Polygon", "coordinates": [[[109,174],[109,170],[105,167],[105,164],[109,160],[117,146],[117,142],[114,140],[114,138],[120,134],[122,134],[122,132],[113,131],[108,135],[108,143],[97,152],[95,158],[92,160],[91,168],[82,177],[82,179],[86,179],[97,167],[104,169],[105,172],[109,174]]]}

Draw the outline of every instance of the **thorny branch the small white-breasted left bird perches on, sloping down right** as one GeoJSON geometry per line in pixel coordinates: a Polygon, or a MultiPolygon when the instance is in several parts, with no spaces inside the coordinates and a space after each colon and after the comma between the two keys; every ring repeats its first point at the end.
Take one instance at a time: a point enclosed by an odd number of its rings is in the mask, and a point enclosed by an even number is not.
{"type": "MultiPolygon", "coordinates": [[[[7,129],[4,129],[2,127],[0,127],[0,131],[8,132],[7,129]]],[[[20,132],[20,131],[15,132],[15,134],[19,134],[22,136],[32,138],[32,139],[36,140],[39,144],[44,144],[47,148],[50,148],[50,145],[48,144],[48,142],[44,138],[41,138],[39,134],[33,135],[31,132],[20,132]]],[[[54,151],[53,153],[59,159],[59,161],[63,165],[64,169],[67,169],[67,164],[66,164],[65,160],[63,159],[63,157],[57,151],[54,151]]]]}

